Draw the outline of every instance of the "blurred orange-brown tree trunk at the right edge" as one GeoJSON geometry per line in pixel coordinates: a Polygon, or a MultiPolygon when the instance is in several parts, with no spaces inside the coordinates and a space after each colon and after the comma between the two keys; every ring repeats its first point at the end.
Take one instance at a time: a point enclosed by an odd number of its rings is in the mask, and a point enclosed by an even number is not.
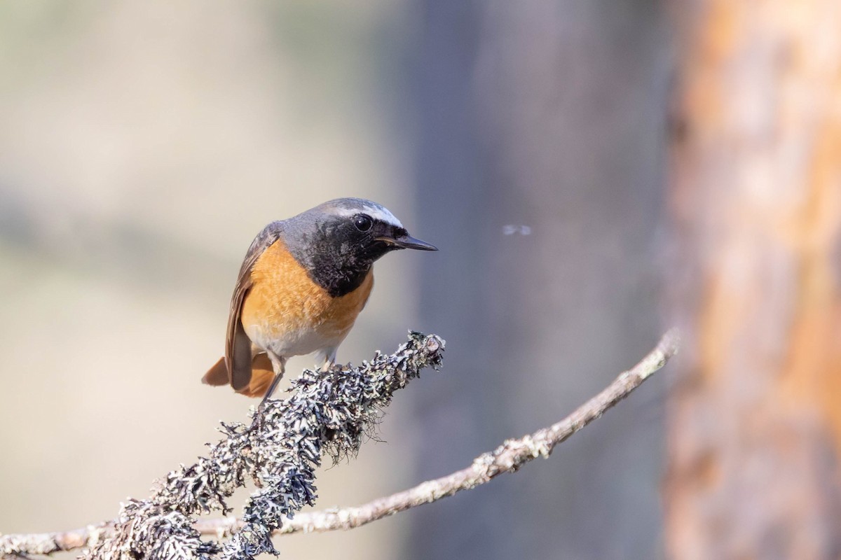
{"type": "Polygon", "coordinates": [[[680,3],[674,558],[841,557],[841,6],[680,3]]]}

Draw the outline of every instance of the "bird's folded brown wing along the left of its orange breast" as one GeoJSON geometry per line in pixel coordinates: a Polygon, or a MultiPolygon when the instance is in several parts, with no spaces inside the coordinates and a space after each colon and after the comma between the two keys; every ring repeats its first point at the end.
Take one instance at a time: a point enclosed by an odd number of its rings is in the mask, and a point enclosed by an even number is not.
{"type": "Polygon", "coordinates": [[[251,289],[251,270],[260,255],[280,238],[282,232],[282,223],[272,222],[257,234],[251,242],[251,247],[248,248],[246,259],[242,261],[234,295],[230,298],[228,333],[225,338],[225,363],[228,366],[228,379],[234,390],[242,390],[251,382],[251,339],[246,335],[240,321],[242,302],[246,300],[248,290],[251,289]]]}

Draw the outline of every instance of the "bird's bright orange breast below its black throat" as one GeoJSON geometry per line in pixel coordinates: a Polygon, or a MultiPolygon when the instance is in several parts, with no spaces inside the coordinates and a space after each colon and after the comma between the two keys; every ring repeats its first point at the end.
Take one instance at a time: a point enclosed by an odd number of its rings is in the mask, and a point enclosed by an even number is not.
{"type": "MultiPolygon", "coordinates": [[[[251,341],[286,344],[289,355],[311,353],[341,343],[368,301],[373,272],[349,294],[331,297],[309,278],[283,241],[276,241],[251,270],[251,289],[241,322],[251,341]]],[[[286,352],[284,352],[286,353],[286,352]]]]}

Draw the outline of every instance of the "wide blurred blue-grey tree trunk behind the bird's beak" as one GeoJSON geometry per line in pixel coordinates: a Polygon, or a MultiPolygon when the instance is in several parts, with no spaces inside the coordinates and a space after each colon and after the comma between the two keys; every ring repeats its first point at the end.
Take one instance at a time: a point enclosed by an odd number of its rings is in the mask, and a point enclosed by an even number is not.
{"type": "MultiPolygon", "coordinates": [[[[418,230],[442,249],[422,322],[448,344],[447,374],[412,391],[427,479],[656,342],[669,54],[653,2],[418,4],[418,230]]],[[[413,510],[403,557],[656,557],[654,383],[526,474],[413,510]]]]}

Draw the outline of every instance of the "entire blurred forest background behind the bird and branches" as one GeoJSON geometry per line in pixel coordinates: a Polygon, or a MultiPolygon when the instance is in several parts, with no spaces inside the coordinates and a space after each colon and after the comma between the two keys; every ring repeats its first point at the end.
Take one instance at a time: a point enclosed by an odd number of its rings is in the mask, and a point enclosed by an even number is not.
{"type": "Polygon", "coordinates": [[[199,379],[251,238],[362,196],[441,251],[377,264],[339,360],[447,354],[320,508],[684,348],[550,460],[283,557],[841,557],[838,29],[825,0],[0,3],[0,531],[113,518],[243,419],[199,379]]]}

